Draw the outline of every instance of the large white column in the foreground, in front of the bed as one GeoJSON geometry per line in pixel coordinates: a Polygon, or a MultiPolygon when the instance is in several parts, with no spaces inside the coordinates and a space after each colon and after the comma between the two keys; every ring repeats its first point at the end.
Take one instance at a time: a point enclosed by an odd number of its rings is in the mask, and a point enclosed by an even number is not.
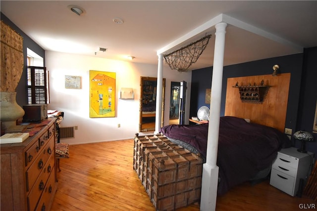
{"type": "Polygon", "coordinates": [[[216,207],[219,173],[219,167],[217,167],[216,164],[218,152],[223,57],[226,27],[226,23],[218,23],[215,25],[216,33],[214,43],[209,118],[211,124],[209,124],[208,127],[206,163],[203,165],[202,194],[200,203],[201,211],[213,211],[216,207]]]}

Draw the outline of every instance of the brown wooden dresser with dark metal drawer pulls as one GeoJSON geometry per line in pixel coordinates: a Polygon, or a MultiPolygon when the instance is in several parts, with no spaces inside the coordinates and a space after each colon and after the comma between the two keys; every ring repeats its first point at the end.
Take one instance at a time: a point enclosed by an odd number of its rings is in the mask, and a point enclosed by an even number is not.
{"type": "Polygon", "coordinates": [[[1,144],[1,211],[49,211],[57,189],[55,121],[22,143],[1,144]]]}

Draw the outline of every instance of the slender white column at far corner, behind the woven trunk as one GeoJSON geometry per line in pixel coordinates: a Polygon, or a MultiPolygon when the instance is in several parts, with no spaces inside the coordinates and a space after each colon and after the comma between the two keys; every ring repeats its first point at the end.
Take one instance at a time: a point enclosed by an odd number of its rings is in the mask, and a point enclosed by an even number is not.
{"type": "Polygon", "coordinates": [[[159,54],[158,63],[158,84],[157,84],[157,104],[155,114],[155,134],[159,133],[162,122],[162,93],[163,93],[163,55],[159,54]]]}

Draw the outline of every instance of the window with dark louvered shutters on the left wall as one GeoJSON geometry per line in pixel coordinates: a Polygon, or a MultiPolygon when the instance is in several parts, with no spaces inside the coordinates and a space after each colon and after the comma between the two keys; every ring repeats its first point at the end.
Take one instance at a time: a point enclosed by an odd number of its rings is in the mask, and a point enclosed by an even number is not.
{"type": "Polygon", "coordinates": [[[49,72],[46,67],[27,67],[28,104],[49,103],[49,72]]]}

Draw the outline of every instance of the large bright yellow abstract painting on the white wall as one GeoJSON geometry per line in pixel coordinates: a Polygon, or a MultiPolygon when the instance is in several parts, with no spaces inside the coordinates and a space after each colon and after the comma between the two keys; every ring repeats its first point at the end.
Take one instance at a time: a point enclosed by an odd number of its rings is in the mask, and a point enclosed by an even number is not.
{"type": "Polygon", "coordinates": [[[115,117],[115,73],[91,70],[89,117],[115,117]]]}

